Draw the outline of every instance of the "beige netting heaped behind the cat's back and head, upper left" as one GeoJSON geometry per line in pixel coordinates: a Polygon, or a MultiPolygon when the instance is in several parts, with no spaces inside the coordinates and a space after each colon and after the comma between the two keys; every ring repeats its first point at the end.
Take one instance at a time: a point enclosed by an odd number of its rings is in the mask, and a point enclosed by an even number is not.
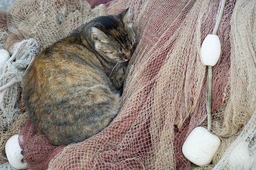
{"type": "Polygon", "coordinates": [[[86,0],[17,0],[8,9],[7,24],[10,32],[35,38],[44,49],[101,15],[105,6],[91,9],[86,0]]]}

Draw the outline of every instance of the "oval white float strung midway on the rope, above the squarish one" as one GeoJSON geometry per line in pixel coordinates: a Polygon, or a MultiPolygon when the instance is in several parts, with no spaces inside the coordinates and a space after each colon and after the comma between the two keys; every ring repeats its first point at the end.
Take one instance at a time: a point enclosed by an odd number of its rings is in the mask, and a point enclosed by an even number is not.
{"type": "Polygon", "coordinates": [[[214,66],[221,56],[221,42],[217,35],[209,34],[201,46],[202,62],[206,66],[214,66]]]}

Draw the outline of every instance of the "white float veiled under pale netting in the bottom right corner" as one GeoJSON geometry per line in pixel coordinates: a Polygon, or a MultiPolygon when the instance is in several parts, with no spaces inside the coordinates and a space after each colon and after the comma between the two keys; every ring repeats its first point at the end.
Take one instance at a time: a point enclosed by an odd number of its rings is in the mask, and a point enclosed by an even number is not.
{"type": "Polygon", "coordinates": [[[252,158],[250,157],[248,142],[241,141],[231,152],[228,158],[229,164],[238,169],[250,170],[252,158]]]}

